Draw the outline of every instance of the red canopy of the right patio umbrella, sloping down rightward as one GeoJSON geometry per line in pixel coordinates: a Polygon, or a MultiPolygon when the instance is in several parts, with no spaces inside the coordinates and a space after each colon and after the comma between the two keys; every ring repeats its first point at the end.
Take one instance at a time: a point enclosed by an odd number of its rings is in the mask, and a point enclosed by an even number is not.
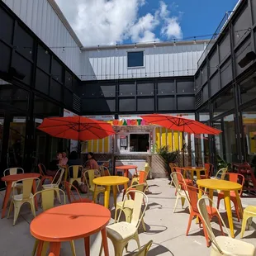
{"type": "Polygon", "coordinates": [[[211,126],[206,126],[199,121],[187,119],[181,116],[168,116],[161,114],[152,114],[141,116],[149,124],[164,126],[170,130],[179,130],[192,134],[219,135],[221,130],[211,126]]]}

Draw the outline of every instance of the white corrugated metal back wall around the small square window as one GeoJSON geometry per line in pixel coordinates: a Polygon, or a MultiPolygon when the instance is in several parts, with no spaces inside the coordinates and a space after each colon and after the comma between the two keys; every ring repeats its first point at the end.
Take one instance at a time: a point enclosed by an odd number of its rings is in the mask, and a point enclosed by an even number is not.
{"type": "Polygon", "coordinates": [[[83,80],[193,75],[206,43],[135,49],[85,50],[83,80]],[[128,51],[144,51],[144,67],[127,68],[128,51]]]}

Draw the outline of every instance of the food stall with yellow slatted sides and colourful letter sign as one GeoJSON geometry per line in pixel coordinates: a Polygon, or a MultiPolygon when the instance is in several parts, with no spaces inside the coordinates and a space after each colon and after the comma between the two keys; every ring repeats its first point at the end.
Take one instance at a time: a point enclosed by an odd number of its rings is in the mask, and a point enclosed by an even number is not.
{"type": "MultiPolygon", "coordinates": [[[[183,139],[187,141],[187,134],[164,127],[149,125],[141,116],[87,116],[92,119],[110,122],[116,135],[102,140],[86,141],[82,145],[82,153],[93,152],[97,161],[106,161],[111,173],[115,166],[136,165],[138,170],[149,163],[158,172],[161,163],[155,157],[158,149],[167,146],[169,151],[183,149],[183,139]],[[152,161],[154,159],[154,163],[152,161]]],[[[130,175],[132,174],[130,170],[130,175]]]]}

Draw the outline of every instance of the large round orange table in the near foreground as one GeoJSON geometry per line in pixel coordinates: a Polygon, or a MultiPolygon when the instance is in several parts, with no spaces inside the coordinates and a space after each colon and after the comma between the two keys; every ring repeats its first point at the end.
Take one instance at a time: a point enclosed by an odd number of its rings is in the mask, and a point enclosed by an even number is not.
{"type": "Polygon", "coordinates": [[[50,253],[59,256],[61,242],[83,238],[88,256],[90,235],[101,231],[104,253],[108,256],[106,226],[110,218],[111,212],[95,203],[68,204],[44,211],[31,222],[31,235],[40,240],[36,255],[40,255],[44,241],[50,242],[50,253]]]}

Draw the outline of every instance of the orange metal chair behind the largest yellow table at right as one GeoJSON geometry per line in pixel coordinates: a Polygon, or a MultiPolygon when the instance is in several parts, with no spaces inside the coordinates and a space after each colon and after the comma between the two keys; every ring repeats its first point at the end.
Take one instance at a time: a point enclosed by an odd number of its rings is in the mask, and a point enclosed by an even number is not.
{"type": "MultiPolygon", "coordinates": [[[[239,183],[244,186],[244,175],[239,174],[239,173],[225,173],[225,178],[228,176],[228,180],[233,183],[239,183]]],[[[224,178],[224,179],[225,179],[224,178]]],[[[243,189],[240,190],[239,196],[241,197],[243,192],[243,189]]],[[[224,193],[219,192],[218,193],[218,201],[217,201],[217,208],[219,209],[220,207],[220,200],[224,199],[224,193]]],[[[240,221],[240,216],[239,216],[239,205],[237,203],[236,197],[235,197],[235,191],[230,192],[230,200],[233,201],[234,206],[235,206],[235,214],[237,216],[238,221],[240,221]]]]}

